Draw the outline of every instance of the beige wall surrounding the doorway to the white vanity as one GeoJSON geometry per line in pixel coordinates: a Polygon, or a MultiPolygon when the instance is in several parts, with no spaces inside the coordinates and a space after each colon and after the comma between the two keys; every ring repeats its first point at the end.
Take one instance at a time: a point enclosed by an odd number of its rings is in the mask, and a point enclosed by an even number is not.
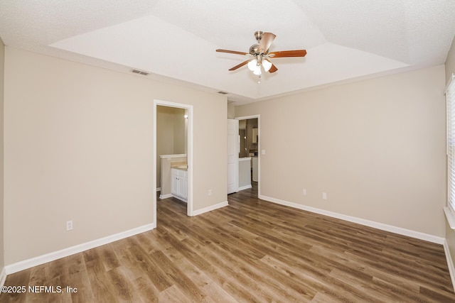
{"type": "Polygon", "coordinates": [[[225,97],[6,47],[7,265],[153,223],[154,99],[193,105],[194,210],[225,202],[225,97]]]}

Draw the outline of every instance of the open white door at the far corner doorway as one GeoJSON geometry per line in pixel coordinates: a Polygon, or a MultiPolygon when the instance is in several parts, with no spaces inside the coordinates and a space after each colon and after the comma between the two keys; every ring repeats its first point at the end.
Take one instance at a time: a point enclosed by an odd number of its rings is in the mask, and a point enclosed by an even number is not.
{"type": "Polygon", "coordinates": [[[239,121],[228,119],[228,194],[239,187],[239,121]]]}

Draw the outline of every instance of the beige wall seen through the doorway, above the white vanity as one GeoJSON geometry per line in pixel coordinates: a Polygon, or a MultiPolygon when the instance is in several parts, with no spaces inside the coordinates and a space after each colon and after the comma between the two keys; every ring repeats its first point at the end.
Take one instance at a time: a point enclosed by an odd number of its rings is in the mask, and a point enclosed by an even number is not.
{"type": "Polygon", "coordinates": [[[185,109],[156,106],[156,188],[161,187],[160,155],[186,153],[185,109]]]}

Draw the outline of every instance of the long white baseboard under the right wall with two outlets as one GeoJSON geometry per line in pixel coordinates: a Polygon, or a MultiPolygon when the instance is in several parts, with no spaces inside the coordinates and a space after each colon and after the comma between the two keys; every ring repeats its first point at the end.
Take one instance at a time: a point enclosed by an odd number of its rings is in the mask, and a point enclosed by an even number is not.
{"type": "Polygon", "coordinates": [[[287,201],[280,200],[280,199],[275,199],[275,198],[272,198],[272,197],[259,195],[259,199],[263,199],[265,201],[273,202],[273,203],[277,203],[277,204],[282,204],[282,205],[285,205],[285,206],[294,207],[296,209],[302,209],[304,211],[311,211],[311,212],[314,212],[316,214],[323,214],[324,216],[331,216],[331,217],[336,218],[336,219],[341,219],[341,220],[350,221],[350,222],[357,223],[357,224],[362,224],[362,225],[365,225],[365,226],[370,226],[370,227],[373,227],[373,228],[378,228],[378,229],[380,229],[382,231],[390,231],[391,233],[398,233],[398,234],[400,234],[402,236],[409,236],[409,237],[412,237],[412,238],[417,238],[417,239],[424,240],[424,241],[429,241],[429,242],[432,242],[432,243],[444,244],[444,241],[445,241],[445,238],[429,235],[428,233],[421,233],[419,231],[412,231],[412,230],[406,229],[406,228],[401,228],[401,227],[392,226],[392,225],[388,225],[388,224],[382,224],[382,223],[375,222],[375,221],[360,219],[360,218],[357,218],[355,216],[346,216],[344,214],[338,214],[338,213],[333,212],[333,211],[326,211],[326,210],[323,210],[323,209],[316,209],[315,207],[301,205],[301,204],[297,204],[297,203],[294,203],[294,202],[287,202],[287,201]]]}

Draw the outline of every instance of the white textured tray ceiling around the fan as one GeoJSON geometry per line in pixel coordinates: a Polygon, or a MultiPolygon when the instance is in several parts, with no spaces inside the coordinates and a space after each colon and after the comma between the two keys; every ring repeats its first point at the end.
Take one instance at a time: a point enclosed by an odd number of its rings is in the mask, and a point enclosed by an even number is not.
{"type": "Polygon", "coordinates": [[[0,1],[8,46],[152,79],[228,92],[235,104],[334,82],[444,64],[455,35],[452,0],[16,0],[0,1]],[[255,31],[277,35],[261,83],[247,60],[255,31]]]}

